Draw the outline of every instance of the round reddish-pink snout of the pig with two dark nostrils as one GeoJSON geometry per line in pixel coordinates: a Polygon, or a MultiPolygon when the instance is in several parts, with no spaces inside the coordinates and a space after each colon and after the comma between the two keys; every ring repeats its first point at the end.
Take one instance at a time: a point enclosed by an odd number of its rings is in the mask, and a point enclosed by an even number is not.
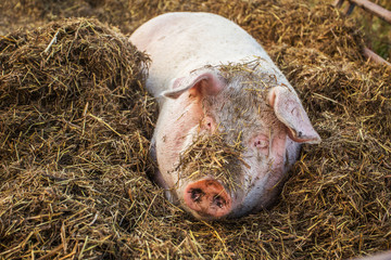
{"type": "Polygon", "coordinates": [[[220,218],[231,210],[231,197],[216,180],[201,180],[185,187],[185,204],[201,217],[220,218]]]}

